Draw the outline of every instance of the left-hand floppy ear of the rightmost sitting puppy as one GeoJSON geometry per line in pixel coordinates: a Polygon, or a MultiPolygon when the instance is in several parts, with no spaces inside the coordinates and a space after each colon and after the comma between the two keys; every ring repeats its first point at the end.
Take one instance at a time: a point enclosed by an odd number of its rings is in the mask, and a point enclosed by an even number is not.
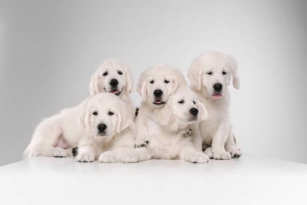
{"type": "Polygon", "coordinates": [[[194,85],[197,90],[201,90],[202,87],[202,64],[198,59],[194,59],[188,70],[188,79],[194,85]]]}

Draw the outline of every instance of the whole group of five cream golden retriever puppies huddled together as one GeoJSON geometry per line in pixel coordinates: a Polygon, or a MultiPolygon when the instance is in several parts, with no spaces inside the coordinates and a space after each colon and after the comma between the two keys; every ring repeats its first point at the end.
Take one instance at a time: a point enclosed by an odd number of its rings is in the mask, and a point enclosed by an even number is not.
{"type": "Polygon", "coordinates": [[[179,69],[154,65],[140,75],[136,90],[142,102],[136,108],[129,95],[130,71],[108,59],[90,79],[91,97],[43,119],[23,157],[76,156],[78,162],[125,163],[149,159],[206,163],[209,158],[240,157],[230,125],[231,78],[238,89],[237,62],[219,50],[192,61],[189,86],[179,69]]]}

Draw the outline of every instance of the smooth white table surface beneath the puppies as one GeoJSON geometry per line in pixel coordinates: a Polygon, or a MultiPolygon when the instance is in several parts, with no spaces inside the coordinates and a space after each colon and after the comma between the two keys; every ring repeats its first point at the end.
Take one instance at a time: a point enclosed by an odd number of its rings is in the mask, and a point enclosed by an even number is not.
{"type": "Polygon", "coordinates": [[[248,154],[208,164],[36,157],[0,167],[0,205],[9,204],[307,205],[307,164],[248,154]]]}

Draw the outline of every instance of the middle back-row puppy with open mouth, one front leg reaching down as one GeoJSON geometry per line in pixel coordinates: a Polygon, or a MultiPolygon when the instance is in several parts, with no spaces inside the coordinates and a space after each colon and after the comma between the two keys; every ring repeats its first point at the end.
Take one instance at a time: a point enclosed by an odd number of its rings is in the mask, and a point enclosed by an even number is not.
{"type": "Polygon", "coordinates": [[[181,86],[186,86],[184,76],[179,69],[170,65],[155,65],[141,73],[136,87],[143,99],[135,119],[136,147],[146,146],[149,142],[145,120],[162,108],[169,95],[181,86]]]}

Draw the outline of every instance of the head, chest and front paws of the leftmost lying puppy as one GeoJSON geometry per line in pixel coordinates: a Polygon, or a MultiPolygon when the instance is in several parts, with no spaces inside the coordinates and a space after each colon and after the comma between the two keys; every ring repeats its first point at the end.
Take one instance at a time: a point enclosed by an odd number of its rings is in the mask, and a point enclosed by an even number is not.
{"type": "Polygon", "coordinates": [[[78,143],[78,162],[137,162],[135,124],[127,103],[113,94],[95,95],[80,114],[86,133],[78,143]]]}

